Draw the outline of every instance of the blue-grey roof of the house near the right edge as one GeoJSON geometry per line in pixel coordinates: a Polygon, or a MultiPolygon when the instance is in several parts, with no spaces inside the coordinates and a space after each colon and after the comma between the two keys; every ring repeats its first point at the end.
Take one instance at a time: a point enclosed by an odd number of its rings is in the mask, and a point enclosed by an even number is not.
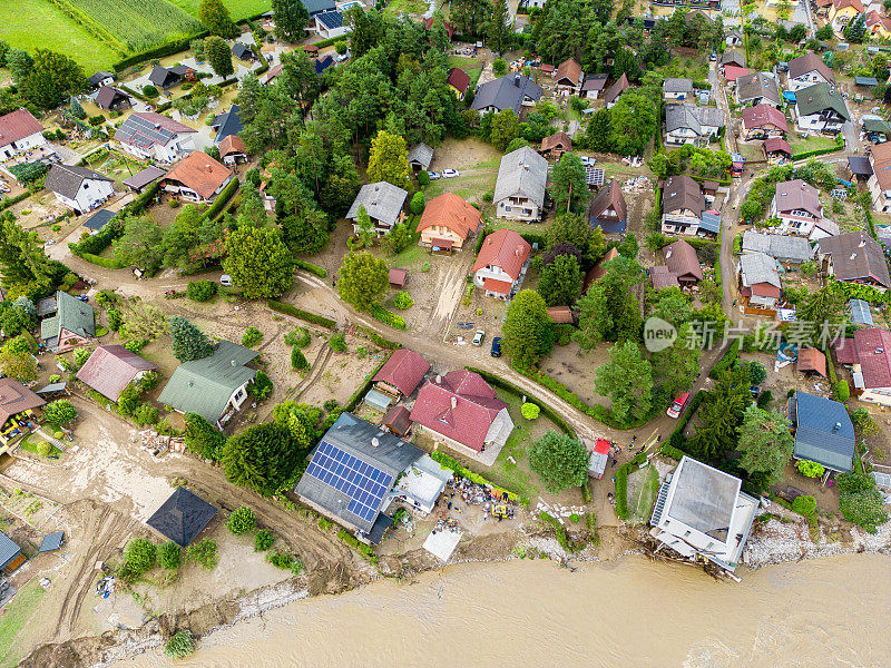
{"type": "Polygon", "coordinates": [[[796,428],[795,459],[853,470],[854,425],[844,404],[797,391],[789,400],[789,418],[796,428]]]}

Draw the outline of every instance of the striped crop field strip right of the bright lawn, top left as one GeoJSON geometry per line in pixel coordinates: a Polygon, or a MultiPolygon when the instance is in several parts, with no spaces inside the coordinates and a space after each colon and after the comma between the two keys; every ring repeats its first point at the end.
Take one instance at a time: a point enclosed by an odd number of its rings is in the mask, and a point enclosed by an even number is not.
{"type": "Polygon", "coordinates": [[[148,51],[200,32],[202,24],[167,0],[69,0],[111,32],[128,51],[148,51]],[[121,17],[127,17],[121,21],[121,17]]]}

